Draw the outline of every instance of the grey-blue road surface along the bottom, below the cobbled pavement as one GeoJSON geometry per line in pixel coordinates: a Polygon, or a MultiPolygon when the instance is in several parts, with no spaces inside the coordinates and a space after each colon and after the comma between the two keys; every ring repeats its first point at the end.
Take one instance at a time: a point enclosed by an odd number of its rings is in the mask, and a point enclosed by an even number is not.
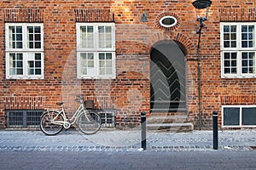
{"type": "Polygon", "coordinates": [[[256,150],[0,152],[0,169],[256,169],[256,150]]]}

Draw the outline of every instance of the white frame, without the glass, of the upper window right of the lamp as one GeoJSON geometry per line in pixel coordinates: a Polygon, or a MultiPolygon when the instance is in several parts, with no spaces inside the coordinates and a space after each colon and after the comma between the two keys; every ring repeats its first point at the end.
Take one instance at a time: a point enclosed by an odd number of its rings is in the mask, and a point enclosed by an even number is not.
{"type": "Polygon", "coordinates": [[[254,78],[256,77],[256,22],[222,22],[220,23],[220,52],[222,78],[254,78]],[[236,48],[224,48],[224,26],[236,26],[236,48]],[[253,48],[241,47],[241,26],[254,26],[253,48]],[[242,53],[254,53],[253,73],[242,73],[242,53]],[[224,73],[224,53],[236,53],[236,74],[224,73]]]}

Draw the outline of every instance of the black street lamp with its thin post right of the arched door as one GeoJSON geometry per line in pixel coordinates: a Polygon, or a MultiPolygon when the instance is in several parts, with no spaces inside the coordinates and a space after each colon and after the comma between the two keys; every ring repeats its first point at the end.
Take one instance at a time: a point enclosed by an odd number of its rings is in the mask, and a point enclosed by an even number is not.
{"type": "Polygon", "coordinates": [[[200,27],[198,33],[198,42],[197,42],[197,82],[198,82],[198,112],[199,112],[199,127],[201,129],[201,58],[200,58],[200,40],[201,40],[201,29],[204,27],[204,21],[208,20],[208,12],[211,7],[211,0],[195,0],[193,6],[197,9],[207,8],[206,16],[202,17],[197,14],[197,21],[200,22],[200,27]]]}

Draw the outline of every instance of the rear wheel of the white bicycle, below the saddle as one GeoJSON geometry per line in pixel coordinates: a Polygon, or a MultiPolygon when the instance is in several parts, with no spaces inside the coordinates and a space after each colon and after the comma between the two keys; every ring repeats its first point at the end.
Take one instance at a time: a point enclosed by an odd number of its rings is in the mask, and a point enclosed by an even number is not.
{"type": "Polygon", "coordinates": [[[63,121],[64,118],[57,111],[45,111],[40,119],[40,129],[43,133],[47,135],[55,135],[60,133],[63,129],[61,124],[52,123],[51,121],[63,121]]]}

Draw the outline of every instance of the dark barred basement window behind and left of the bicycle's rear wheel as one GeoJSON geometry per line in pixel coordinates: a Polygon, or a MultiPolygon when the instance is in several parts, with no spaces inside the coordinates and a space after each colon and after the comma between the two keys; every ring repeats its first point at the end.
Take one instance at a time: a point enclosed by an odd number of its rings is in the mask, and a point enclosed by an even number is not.
{"type": "Polygon", "coordinates": [[[38,111],[7,111],[6,127],[9,128],[37,128],[40,124],[40,116],[43,110],[38,111]]]}

